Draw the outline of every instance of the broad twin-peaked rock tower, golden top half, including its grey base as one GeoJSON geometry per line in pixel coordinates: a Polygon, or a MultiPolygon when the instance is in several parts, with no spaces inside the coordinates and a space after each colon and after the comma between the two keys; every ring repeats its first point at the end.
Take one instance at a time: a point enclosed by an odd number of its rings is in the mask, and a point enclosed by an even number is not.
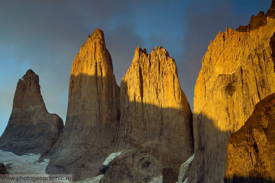
{"type": "Polygon", "coordinates": [[[122,153],[100,182],[151,182],[173,167],[177,180],[180,164],[193,154],[192,113],[164,48],[135,50],[122,78],[120,110],[115,151],[122,153]]]}

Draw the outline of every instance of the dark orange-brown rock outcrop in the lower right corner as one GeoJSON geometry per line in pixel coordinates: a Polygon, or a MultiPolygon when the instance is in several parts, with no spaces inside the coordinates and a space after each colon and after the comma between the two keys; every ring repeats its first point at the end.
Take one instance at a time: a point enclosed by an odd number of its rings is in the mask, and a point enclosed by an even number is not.
{"type": "Polygon", "coordinates": [[[256,104],[227,144],[224,182],[275,182],[275,93],[256,104]]]}

